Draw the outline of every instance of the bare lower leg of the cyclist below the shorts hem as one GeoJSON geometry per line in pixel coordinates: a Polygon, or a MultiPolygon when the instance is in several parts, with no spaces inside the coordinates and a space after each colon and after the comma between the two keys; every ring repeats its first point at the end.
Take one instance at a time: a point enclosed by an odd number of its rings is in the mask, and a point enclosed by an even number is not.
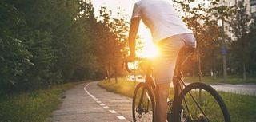
{"type": "Polygon", "coordinates": [[[156,85],[156,107],[155,122],[166,122],[167,118],[167,97],[169,95],[170,83],[156,85]]]}

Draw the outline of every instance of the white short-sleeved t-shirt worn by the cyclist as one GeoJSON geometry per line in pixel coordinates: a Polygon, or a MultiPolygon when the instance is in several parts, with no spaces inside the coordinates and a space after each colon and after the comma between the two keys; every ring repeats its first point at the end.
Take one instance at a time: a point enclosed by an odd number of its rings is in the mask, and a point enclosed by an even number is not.
{"type": "Polygon", "coordinates": [[[176,14],[174,7],[163,0],[140,0],[134,4],[132,18],[141,18],[150,28],[154,43],[181,33],[193,33],[176,14]]]}

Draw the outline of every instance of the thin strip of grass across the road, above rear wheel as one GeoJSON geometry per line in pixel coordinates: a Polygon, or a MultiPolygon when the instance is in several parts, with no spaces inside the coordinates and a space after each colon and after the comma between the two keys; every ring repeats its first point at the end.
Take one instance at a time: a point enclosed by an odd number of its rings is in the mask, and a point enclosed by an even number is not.
{"type": "MultiPolygon", "coordinates": [[[[198,77],[184,77],[184,81],[191,83],[191,82],[199,81],[199,78],[198,77]]],[[[207,84],[224,83],[223,77],[217,77],[216,79],[214,79],[214,77],[202,77],[202,82],[207,83],[207,84]]],[[[256,83],[256,78],[250,77],[250,78],[247,78],[245,81],[242,79],[242,77],[229,76],[225,83],[227,83],[227,84],[256,83]]]]}

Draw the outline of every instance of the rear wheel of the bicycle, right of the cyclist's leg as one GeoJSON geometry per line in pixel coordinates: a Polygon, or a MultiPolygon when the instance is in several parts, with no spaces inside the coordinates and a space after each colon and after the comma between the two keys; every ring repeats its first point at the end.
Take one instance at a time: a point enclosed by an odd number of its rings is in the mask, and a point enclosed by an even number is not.
{"type": "Polygon", "coordinates": [[[228,112],[228,109],[226,108],[226,104],[222,100],[222,97],[210,85],[206,85],[200,82],[187,85],[185,89],[182,90],[180,96],[178,96],[178,100],[174,102],[173,110],[174,122],[230,122],[230,113],[228,112]],[[196,91],[196,89],[198,89],[199,91],[196,91]],[[202,91],[201,96],[199,95],[200,89],[202,91]],[[209,100],[206,100],[207,92],[210,96],[212,96],[209,100]],[[194,96],[194,100],[191,96],[194,96]],[[196,100],[197,97],[199,98],[199,100],[196,100]],[[206,101],[204,102],[202,100],[206,101]],[[206,108],[207,104],[211,104],[210,108],[206,108]],[[216,106],[214,106],[213,104],[216,106]]]}

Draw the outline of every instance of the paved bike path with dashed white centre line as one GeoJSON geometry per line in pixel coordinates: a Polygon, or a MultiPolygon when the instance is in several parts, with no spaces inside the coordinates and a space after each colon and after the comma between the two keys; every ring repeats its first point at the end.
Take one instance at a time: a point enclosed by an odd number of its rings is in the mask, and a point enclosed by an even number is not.
{"type": "Polygon", "coordinates": [[[62,105],[53,112],[53,122],[131,121],[131,99],[107,92],[97,82],[83,83],[64,94],[62,105]]]}

